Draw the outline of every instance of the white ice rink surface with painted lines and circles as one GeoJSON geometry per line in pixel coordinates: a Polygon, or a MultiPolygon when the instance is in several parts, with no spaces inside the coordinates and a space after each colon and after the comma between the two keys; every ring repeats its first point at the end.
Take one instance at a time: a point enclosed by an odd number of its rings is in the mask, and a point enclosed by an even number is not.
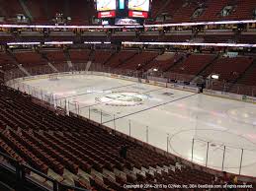
{"type": "Polygon", "coordinates": [[[241,165],[241,174],[256,176],[255,104],[93,75],[24,83],[183,159],[234,173],[241,165]]]}

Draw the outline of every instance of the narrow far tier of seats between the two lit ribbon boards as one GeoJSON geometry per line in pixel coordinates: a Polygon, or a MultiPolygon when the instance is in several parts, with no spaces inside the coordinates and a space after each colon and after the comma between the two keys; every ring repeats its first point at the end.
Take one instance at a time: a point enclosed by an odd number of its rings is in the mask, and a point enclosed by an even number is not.
{"type": "Polygon", "coordinates": [[[107,36],[106,32],[49,32],[47,37],[43,32],[21,32],[19,39],[11,32],[0,32],[0,42],[8,43],[13,41],[169,41],[169,42],[229,42],[229,43],[256,43],[255,32],[248,29],[248,32],[235,33],[231,30],[206,30],[195,34],[188,31],[166,31],[162,32],[141,32],[135,36],[135,32],[115,32],[107,36]],[[80,36],[81,35],[81,36],[80,36]]]}

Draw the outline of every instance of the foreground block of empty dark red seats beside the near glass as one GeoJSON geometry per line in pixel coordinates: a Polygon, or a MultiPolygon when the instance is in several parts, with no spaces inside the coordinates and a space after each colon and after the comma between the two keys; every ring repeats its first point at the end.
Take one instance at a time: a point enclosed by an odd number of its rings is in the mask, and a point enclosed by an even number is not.
{"type": "Polygon", "coordinates": [[[173,159],[76,117],[56,115],[9,88],[0,88],[0,105],[0,151],[61,182],[98,191],[126,190],[124,183],[213,183],[212,174],[184,164],[175,168],[173,159]],[[127,160],[119,156],[124,144],[127,160]]]}

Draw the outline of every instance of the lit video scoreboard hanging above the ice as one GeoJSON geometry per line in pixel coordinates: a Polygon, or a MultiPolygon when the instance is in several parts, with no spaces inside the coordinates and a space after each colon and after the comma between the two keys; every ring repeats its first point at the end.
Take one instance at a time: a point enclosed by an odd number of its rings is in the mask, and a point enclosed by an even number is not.
{"type": "MultiPolygon", "coordinates": [[[[95,0],[98,19],[110,21],[145,20],[149,17],[152,0],[95,0]],[[126,20],[125,20],[126,19],[126,20]]],[[[129,23],[129,22],[126,22],[129,23]]]]}

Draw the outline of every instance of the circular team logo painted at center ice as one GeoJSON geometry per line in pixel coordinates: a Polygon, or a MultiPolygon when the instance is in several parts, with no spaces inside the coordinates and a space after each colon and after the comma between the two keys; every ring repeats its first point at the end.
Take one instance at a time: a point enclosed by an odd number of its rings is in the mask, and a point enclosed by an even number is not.
{"type": "Polygon", "coordinates": [[[107,96],[96,97],[96,102],[113,106],[134,106],[143,104],[143,100],[148,96],[136,92],[113,92],[107,96]]]}

